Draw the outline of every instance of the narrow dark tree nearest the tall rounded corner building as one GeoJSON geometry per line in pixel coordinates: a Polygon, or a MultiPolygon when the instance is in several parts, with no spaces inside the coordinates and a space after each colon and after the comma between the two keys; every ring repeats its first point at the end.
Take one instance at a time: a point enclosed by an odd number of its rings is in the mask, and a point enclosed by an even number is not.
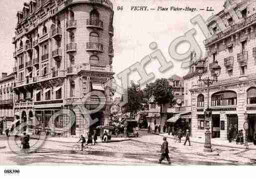
{"type": "Polygon", "coordinates": [[[127,112],[136,114],[138,111],[143,109],[144,93],[141,90],[140,85],[135,84],[131,81],[131,86],[127,88],[128,104],[127,112]]]}

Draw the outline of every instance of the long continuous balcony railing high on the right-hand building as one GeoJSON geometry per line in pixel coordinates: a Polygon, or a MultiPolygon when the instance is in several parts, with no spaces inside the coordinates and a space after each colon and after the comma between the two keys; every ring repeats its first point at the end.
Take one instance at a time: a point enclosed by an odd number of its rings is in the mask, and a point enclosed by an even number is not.
{"type": "Polygon", "coordinates": [[[229,28],[228,30],[226,30],[224,32],[221,31],[221,32],[213,35],[212,37],[206,39],[205,44],[210,44],[210,43],[216,42],[216,41],[222,39],[223,37],[229,36],[232,33],[236,32],[238,30],[241,30],[241,29],[245,28],[246,26],[251,25],[255,22],[256,22],[256,13],[245,18],[245,20],[243,22],[232,25],[231,28],[229,28]]]}

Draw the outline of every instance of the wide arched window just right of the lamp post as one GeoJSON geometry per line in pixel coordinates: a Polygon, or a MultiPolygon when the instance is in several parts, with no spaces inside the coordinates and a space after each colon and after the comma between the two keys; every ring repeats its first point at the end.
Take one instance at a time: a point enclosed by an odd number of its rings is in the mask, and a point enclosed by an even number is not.
{"type": "Polygon", "coordinates": [[[221,91],[212,95],[212,106],[237,105],[237,93],[234,91],[221,91]]]}

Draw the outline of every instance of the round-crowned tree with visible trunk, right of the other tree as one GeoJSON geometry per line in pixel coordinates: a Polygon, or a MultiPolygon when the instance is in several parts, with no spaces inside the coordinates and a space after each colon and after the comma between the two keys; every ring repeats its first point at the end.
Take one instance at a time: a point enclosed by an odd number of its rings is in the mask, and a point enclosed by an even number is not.
{"type": "Polygon", "coordinates": [[[148,100],[153,98],[155,103],[160,106],[160,121],[162,122],[163,105],[173,103],[172,86],[165,78],[157,79],[153,83],[146,85],[144,96],[148,100]]]}

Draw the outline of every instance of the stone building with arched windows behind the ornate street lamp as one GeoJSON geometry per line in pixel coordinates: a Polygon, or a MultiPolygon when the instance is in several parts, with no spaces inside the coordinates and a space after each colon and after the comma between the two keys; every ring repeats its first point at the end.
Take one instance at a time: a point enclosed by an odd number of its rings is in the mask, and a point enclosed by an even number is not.
{"type": "MultiPolygon", "coordinates": [[[[239,130],[245,136],[244,123],[248,121],[249,141],[252,141],[256,132],[256,2],[225,1],[224,9],[211,16],[207,26],[213,36],[205,41],[207,59],[198,63],[206,65],[210,76],[213,62],[218,61],[222,67],[218,82],[210,86],[212,138],[226,140],[230,130],[233,139],[239,130]],[[229,13],[230,9],[236,14],[229,13]],[[226,29],[220,29],[218,19],[226,29]]],[[[204,137],[207,87],[198,83],[190,92],[192,134],[204,137]]]]}

